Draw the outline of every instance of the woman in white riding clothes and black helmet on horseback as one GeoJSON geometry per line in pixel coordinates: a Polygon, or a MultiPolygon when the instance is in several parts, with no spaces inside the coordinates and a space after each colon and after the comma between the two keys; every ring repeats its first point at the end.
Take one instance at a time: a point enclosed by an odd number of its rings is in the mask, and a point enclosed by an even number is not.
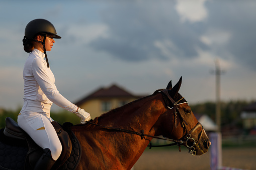
{"type": "Polygon", "coordinates": [[[62,146],[51,124],[52,103],[81,118],[81,123],[91,119],[88,112],[80,109],[57,90],[54,75],[49,68],[46,51],[51,51],[54,38],[60,39],[54,26],[47,20],[36,19],[28,23],[23,39],[24,50],[29,54],[26,60],[24,78],[24,105],[18,116],[19,126],[44,149],[35,168],[50,169],[60,156],[62,146]],[[46,61],[44,60],[46,59],[46,61]]]}

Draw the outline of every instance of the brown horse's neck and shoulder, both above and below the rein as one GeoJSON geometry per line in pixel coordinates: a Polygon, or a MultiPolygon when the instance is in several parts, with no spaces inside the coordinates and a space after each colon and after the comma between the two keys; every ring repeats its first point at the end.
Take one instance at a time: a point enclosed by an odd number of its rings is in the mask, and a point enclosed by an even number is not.
{"type": "MultiPolygon", "coordinates": [[[[135,101],[120,109],[113,110],[99,118],[98,124],[123,128],[154,135],[153,125],[157,121],[164,107],[159,100],[160,95],[149,96],[135,101]],[[159,110],[160,109],[160,110],[159,110]]],[[[151,138],[126,132],[103,129],[100,127],[73,130],[82,142],[83,155],[91,168],[102,165],[108,169],[128,169],[138,160],[151,138]],[[115,163],[113,163],[115,162],[115,163]]]]}

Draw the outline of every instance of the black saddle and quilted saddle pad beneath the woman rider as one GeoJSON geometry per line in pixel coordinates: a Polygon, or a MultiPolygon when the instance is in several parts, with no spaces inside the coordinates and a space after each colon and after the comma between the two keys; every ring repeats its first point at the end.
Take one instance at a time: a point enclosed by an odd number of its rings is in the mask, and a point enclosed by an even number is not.
{"type": "MultiPolygon", "coordinates": [[[[64,123],[65,124],[65,123],[64,123]]],[[[66,123],[65,130],[58,122],[53,121],[52,125],[56,130],[56,133],[62,144],[62,152],[53,165],[52,169],[75,169],[79,163],[81,149],[79,141],[76,136],[70,130],[71,123],[66,123]],[[68,132],[67,132],[68,131],[68,132]],[[71,140],[70,140],[71,139],[71,140]],[[71,161],[70,161],[71,160],[71,161]]],[[[27,143],[28,151],[25,158],[24,169],[33,169],[35,163],[43,153],[43,149],[38,146],[32,138],[18,125],[12,118],[6,118],[6,127],[3,130],[4,135],[10,140],[21,143],[27,143]]],[[[10,144],[8,142],[6,144],[10,144]]],[[[0,141],[1,142],[1,141],[0,141]]],[[[3,143],[2,143],[3,145],[3,143]]],[[[12,145],[12,144],[11,144],[12,145]]],[[[24,145],[24,144],[23,144],[24,145]]],[[[3,147],[3,146],[2,146],[3,147]]],[[[9,146],[10,147],[10,146],[9,146]]],[[[0,148],[1,151],[1,148],[0,148]]],[[[3,165],[4,166],[4,165],[3,165]]],[[[3,167],[0,162],[0,169],[11,169],[10,167],[3,167]]]]}

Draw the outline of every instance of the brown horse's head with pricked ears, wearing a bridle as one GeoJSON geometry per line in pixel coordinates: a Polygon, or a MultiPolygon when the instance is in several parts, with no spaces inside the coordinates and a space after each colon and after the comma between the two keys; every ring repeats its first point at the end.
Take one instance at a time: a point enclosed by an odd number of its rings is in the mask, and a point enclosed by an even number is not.
{"type": "Polygon", "coordinates": [[[165,123],[162,135],[179,140],[180,144],[185,145],[193,155],[201,155],[207,152],[211,142],[188,102],[178,93],[181,83],[182,77],[174,87],[170,81],[167,88],[161,91],[167,107],[164,115],[168,117],[166,119],[163,115],[165,123]]]}

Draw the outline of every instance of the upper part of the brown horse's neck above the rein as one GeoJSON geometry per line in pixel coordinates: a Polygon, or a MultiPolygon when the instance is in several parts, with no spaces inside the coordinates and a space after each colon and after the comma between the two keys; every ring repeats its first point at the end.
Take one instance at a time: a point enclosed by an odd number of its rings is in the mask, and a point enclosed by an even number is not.
{"type": "Polygon", "coordinates": [[[160,110],[164,109],[160,97],[160,94],[148,96],[112,110],[104,115],[104,119],[99,118],[99,123],[134,131],[143,129],[149,132],[161,114],[160,110]]]}

